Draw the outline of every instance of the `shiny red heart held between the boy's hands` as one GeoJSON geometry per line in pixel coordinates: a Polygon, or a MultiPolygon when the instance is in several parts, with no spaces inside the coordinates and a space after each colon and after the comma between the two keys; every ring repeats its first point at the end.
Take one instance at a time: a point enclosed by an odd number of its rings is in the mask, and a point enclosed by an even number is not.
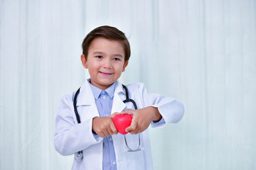
{"type": "Polygon", "coordinates": [[[122,135],[127,134],[125,132],[125,129],[129,127],[132,123],[132,115],[129,114],[119,114],[114,115],[114,118],[112,119],[114,126],[117,128],[117,131],[121,133],[122,135]]]}

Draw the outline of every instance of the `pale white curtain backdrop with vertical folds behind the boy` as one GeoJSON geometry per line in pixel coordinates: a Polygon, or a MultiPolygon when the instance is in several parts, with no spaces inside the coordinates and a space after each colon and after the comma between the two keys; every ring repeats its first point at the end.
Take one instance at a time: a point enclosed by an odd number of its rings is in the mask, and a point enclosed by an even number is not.
{"type": "Polygon", "coordinates": [[[123,84],[185,106],[150,128],[154,169],[256,169],[255,0],[0,0],[0,169],[70,169],[55,114],[89,78],[81,42],[102,25],[131,43],[123,84]]]}

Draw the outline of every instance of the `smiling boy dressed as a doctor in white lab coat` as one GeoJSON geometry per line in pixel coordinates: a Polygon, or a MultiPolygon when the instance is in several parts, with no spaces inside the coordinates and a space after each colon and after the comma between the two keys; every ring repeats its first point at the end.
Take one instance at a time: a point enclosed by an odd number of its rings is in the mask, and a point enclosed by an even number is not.
{"type": "Polygon", "coordinates": [[[129,57],[129,42],[117,28],[95,28],[83,40],[81,61],[90,79],[81,86],[77,97],[74,92],[62,98],[56,117],[55,149],[63,155],[76,153],[72,169],[153,169],[146,129],[150,124],[159,127],[181,120],[184,110],[180,102],[148,94],[141,83],[127,86],[129,98],[139,109],[134,110],[131,102],[123,102],[126,91],[117,80],[129,57]],[[140,134],[143,149],[138,152],[124,152],[124,137],[112,122],[114,115],[120,113],[133,116],[126,137],[129,145],[136,147],[140,134]],[[78,159],[78,155],[82,157],[78,159]]]}

